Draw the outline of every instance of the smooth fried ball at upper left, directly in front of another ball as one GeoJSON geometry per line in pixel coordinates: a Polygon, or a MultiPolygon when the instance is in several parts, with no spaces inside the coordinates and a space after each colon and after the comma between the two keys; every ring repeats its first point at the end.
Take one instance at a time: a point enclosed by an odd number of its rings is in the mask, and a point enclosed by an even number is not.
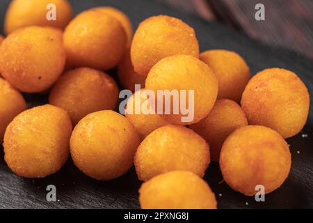
{"type": "Polygon", "coordinates": [[[98,10],[77,15],[66,27],[63,40],[70,66],[98,70],[117,66],[127,45],[122,24],[98,10]]]}

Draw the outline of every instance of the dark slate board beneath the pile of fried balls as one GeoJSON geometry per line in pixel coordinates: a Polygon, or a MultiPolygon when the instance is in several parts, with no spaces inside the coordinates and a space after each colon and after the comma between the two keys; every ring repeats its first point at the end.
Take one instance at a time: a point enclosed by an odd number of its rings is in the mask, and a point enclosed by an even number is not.
{"type": "MultiPolygon", "coordinates": [[[[9,1],[0,2],[0,29],[3,30],[3,17],[9,1]]],[[[75,13],[93,6],[115,6],[129,15],[135,28],[151,15],[179,17],[195,28],[202,51],[220,48],[239,52],[248,61],[252,74],[272,67],[293,70],[313,95],[313,61],[284,49],[261,45],[222,24],[204,22],[154,1],[72,0],[71,3],[75,13]]],[[[45,95],[26,95],[26,99],[30,106],[47,100],[45,95]]],[[[245,197],[231,190],[225,183],[220,183],[222,176],[218,164],[210,164],[204,178],[216,193],[218,208],[313,208],[312,104],[303,132],[287,141],[291,144],[291,173],[280,189],[266,195],[265,202],[257,203],[253,197],[245,197]],[[302,134],[308,137],[303,138],[302,134]]],[[[118,179],[99,182],[84,176],[69,160],[57,174],[33,180],[15,176],[4,162],[2,150],[0,154],[0,208],[139,208],[138,188],[141,182],[137,180],[134,169],[118,179]],[[56,185],[57,202],[46,201],[46,187],[50,184],[56,185]]]]}

